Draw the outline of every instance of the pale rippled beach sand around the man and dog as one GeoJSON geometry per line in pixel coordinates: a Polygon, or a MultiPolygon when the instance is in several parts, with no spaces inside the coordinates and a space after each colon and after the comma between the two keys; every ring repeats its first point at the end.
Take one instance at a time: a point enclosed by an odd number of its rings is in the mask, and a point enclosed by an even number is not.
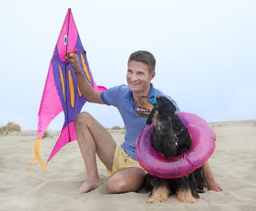
{"type": "MultiPolygon", "coordinates": [[[[149,193],[107,194],[107,173],[98,160],[103,186],[87,194],[77,189],[86,178],[77,142],[66,145],[43,171],[37,162],[30,172],[36,136],[0,136],[0,210],[256,210],[256,120],[216,122],[216,150],[210,158],[222,192],[200,194],[193,204],[170,195],[164,203],[147,204],[149,193]]],[[[118,143],[124,131],[111,132],[118,143]]],[[[57,136],[42,140],[40,155],[48,159],[57,136]]]]}

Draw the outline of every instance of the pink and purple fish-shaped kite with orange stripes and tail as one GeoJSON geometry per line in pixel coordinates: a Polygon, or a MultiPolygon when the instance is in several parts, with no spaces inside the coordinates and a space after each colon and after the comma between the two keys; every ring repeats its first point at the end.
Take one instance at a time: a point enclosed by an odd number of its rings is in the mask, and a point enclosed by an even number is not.
{"type": "Polygon", "coordinates": [[[65,60],[67,52],[74,52],[78,55],[80,66],[83,69],[86,80],[89,81],[94,90],[106,90],[103,86],[97,86],[92,77],[86,51],[80,40],[71,8],[69,8],[54,48],[43,89],[38,113],[37,140],[34,143],[34,160],[30,168],[38,160],[44,170],[48,169],[46,165],[54,155],[67,143],[77,140],[74,119],[80,113],[86,99],[82,96],[77,86],[72,66],[65,60]],[[39,155],[40,142],[48,125],[60,112],[64,113],[65,122],[59,139],[45,164],[39,155]]]}

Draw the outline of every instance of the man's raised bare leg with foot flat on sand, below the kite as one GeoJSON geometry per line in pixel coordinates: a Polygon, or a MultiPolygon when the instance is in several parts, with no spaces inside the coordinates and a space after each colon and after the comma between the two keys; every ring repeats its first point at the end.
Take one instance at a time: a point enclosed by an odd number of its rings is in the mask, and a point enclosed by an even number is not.
{"type": "Polygon", "coordinates": [[[106,168],[112,169],[116,143],[107,130],[87,112],[76,116],[75,130],[87,172],[86,181],[79,192],[85,193],[101,186],[96,153],[106,168]]]}

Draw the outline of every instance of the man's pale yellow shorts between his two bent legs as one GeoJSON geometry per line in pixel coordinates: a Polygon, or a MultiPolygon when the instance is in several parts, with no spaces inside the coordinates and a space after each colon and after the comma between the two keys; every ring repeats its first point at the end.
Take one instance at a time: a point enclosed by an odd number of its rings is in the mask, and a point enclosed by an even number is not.
{"type": "Polygon", "coordinates": [[[107,169],[107,173],[109,176],[112,176],[115,172],[129,167],[142,168],[137,160],[129,156],[129,154],[127,154],[120,145],[117,145],[115,147],[112,170],[107,169]]]}

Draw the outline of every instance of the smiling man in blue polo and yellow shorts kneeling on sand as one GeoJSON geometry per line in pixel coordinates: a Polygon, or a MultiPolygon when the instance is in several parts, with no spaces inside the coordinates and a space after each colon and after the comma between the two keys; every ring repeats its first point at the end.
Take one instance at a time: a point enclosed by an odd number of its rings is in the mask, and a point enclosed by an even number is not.
{"type": "MultiPolygon", "coordinates": [[[[82,112],[75,118],[77,141],[85,162],[87,178],[79,189],[85,193],[101,186],[98,175],[96,154],[104,163],[110,175],[106,188],[110,194],[138,191],[142,186],[146,172],[139,166],[135,155],[135,143],[138,134],[146,125],[146,119],[134,112],[138,106],[138,96],[166,96],[174,105],[170,96],[155,89],[151,80],[155,77],[156,60],[148,51],[136,51],[130,55],[126,74],[126,85],[112,87],[104,92],[96,92],[85,78],[76,54],[69,52],[66,60],[71,63],[77,78],[77,84],[88,102],[114,105],[119,110],[126,135],[124,142],[117,145],[108,131],[89,113],[82,112]]],[[[178,106],[176,105],[177,109],[178,106]]],[[[179,110],[179,109],[178,109],[179,110]]],[[[208,189],[222,191],[214,179],[208,162],[203,165],[203,173],[208,189]]]]}

